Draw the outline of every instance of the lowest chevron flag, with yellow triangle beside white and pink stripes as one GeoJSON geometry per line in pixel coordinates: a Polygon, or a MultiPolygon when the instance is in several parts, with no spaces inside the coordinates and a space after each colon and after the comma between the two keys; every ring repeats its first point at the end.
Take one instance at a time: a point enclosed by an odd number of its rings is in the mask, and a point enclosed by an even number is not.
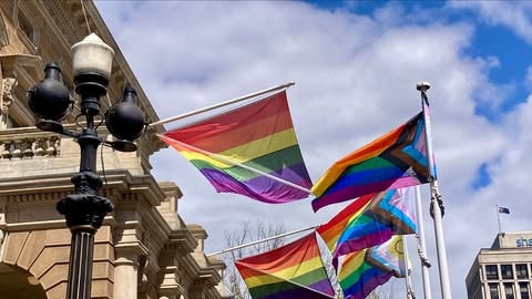
{"type": "Polygon", "coordinates": [[[344,258],[338,280],[345,299],[364,299],[392,276],[405,277],[402,237],[395,236],[379,246],[344,258]]]}

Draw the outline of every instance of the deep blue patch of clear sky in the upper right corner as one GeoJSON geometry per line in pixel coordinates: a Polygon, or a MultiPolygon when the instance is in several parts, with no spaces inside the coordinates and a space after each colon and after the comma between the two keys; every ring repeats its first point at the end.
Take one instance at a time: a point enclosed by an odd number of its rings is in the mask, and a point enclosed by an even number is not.
{"type": "MultiPolygon", "coordinates": [[[[376,11],[383,7],[382,1],[307,1],[313,6],[321,9],[348,10],[352,13],[375,14],[376,11]]],[[[495,1],[497,2],[497,1],[495,1]]],[[[463,49],[463,54],[471,58],[494,58],[497,64],[489,69],[487,76],[490,81],[501,85],[508,86],[508,96],[505,101],[498,106],[497,111],[485,109],[482,105],[477,107],[479,115],[485,116],[492,122],[498,121],[500,112],[505,113],[511,111],[516,104],[524,101],[530,91],[530,84],[523,84],[526,80],[528,68],[532,64],[532,48],[530,38],[521,37],[509,28],[508,24],[502,24],[494,21],[492,18],[487,18],[479,14],[478,11],[471,7],[457,9],[456,6],[447,1],[397,1],[387,3],[395,6],[398,10],[402,10],[406,14],[411,14],[407,23],[429,24],[431,22],[462,22],[470,19],[469,22],[474,24],[474,33],[471,39],[470,47],[463,49]],[[426,11],[430,10],[431,14],[437,11],[438,18],[424,18],[426,11]],[[510,30],[509,30],[510,29],[510,30]],[[528,42],[529,41],[529,42],[528,42]]],[[[520,4],[520,3],[516,3],[520,4]]],[[[524,4],[526,6],[526,3],[524,4]]],[[[460,7],[460,4],[458,6],[460,7]]]]}

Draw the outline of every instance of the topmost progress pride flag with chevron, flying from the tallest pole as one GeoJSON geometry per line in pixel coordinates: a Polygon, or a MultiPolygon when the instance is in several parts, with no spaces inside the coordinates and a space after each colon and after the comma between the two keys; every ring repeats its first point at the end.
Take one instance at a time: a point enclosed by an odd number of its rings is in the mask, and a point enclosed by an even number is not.
{"type": "Polygon", "coordinates": [[[314,185],[313,208],[316,212],[366,194],[424,184],[429,176],[424,118],[419,113],[336,162],[314,185]]]}

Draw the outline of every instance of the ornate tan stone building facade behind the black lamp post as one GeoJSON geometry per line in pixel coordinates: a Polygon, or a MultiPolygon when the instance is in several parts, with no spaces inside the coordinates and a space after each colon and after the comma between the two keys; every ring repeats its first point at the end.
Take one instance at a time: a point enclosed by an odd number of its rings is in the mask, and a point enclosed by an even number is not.
{"type": "MultiPolygon", "coordinates": [[[[92,1],[2,0],[0,13],[0,298],[64,298],[71,234],[55,204],[73,192],[80,148],[34,127],[27,91],[57,62],[78,100],[70,48],[90,28],[116,53],[102,111],[130,83],[146,122],[157,115],[92,1]]],[[[64,123],[74,128],[74,116],[64,123]]],[[[95,235],[92,297],[223,298],[225,265],[205,256],[206,231],[178,216],[180,188],[151,175],[150,156],[164,146],[157,130],[141,136],[136,152],[98,151],[102,192],[115,210],[95,235]]]]}

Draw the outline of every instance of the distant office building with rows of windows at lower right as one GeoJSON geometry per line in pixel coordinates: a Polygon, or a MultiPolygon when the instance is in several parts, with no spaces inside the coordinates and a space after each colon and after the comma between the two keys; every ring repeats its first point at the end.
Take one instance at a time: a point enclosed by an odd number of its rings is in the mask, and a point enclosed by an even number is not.
{"type": "Polygon", "coordinates": [[[466,286],[469,299],[530,299],[532,231],[501,233],[480,249],[466,286]]]}

